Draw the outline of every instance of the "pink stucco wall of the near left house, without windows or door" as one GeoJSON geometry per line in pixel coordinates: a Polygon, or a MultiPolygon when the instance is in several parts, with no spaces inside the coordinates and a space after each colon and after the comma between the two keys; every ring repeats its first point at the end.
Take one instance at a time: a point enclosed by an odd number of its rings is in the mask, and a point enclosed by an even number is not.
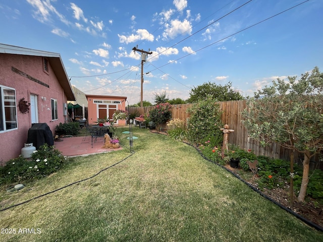
{"type": "Polygon", "coordinates": [[[17,123],[18,129],[0,131],[1,151],[0,165],[21,154],[21,148],[27,141],[28,130],[31,128],[31,113],[22,113],[19,110],[19,100],[25,98],[30,103],[30,95],[33,94],[37,99],[38,123],[46,123],[53,135],[55,127],[60,123],[65,123],[66,116],[63,115],[63,103],[67,102],[66,95],[62,86],[59,84],[55,73],[48,62],[48,74],[43,71],[43,57],[5,54],[0,53],[0,85],[14,88],[16,90],[17,123]],[[49,86],[45,87],[28,77],[21,76],[12,67],[33,77],[49,86]],[[41,97],[45,97],[42,99],[41,97]],[[58,102],[58,119],[51,118],[51,98],[58,102]]]}

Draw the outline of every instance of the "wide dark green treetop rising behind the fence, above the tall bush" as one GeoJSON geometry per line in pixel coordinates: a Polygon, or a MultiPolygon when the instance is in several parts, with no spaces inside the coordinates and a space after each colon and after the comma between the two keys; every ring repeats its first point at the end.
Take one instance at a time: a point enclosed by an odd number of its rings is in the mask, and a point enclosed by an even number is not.
{"type": "Polygon", "coordinates": [[[232,83],[221,86],[216,83],[203,83],[197,87],[194,87],[190,91],[190,97],[187,99],[187,103],[195,103],[199,100],[203,100],[206,95],[210,95],[212,98],[221,101],[233,101],[242,100],[243,96],[236,90],[233,90],[232,83]]]}

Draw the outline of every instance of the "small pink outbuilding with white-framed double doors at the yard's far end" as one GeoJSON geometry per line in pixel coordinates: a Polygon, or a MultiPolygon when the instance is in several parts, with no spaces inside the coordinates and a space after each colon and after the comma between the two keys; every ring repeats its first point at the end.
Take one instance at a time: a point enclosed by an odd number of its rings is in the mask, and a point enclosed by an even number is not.
{"type": "MultiPolygon", "coordinates": [[[[126,109],[127,97],[103,96],[86,94],[88,105],[88,124],[95,125],[97,118],[113,120],[112,115],[116,110],[126,109]]],[[[126,120],[118,120],[118,125],[125,125],[126,120]]]]}

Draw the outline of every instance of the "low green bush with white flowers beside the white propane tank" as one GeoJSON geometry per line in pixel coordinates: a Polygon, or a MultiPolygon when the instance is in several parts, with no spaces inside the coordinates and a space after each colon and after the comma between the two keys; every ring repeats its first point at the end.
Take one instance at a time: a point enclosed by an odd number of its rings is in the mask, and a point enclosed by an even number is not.
{"type": "Polygon", "coordinates": [[[0,185],[39,179],[56,172],[67,159],[53,146],[44,144],[34,151],[30,159],[19,156],[0,166],[0,185]]]}

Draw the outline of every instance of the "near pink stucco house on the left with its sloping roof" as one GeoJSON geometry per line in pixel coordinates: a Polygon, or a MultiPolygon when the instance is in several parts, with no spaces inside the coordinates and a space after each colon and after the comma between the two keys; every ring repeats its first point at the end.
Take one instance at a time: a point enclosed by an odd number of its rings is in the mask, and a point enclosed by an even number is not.
{"type": "Polygon", "coordinates": [[[67,100],[75,95],[59,53],[0,44],[0,165],[21,154],[32,124],[55,135],[67,100]]]}

